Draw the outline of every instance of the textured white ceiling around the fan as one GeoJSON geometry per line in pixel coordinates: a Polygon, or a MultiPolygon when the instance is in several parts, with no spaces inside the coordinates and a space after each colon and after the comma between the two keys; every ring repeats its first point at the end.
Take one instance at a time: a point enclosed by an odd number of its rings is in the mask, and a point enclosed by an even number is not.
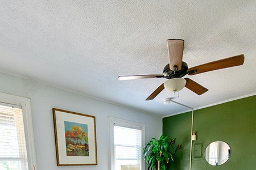
{"type": "Polygon", "coordinates": [[[1,1],[0,70],[161,116],[255,94],[256,1],[1,1]],[[245,54],[242,66],[189,76],[209,91],[162,91],[167,39],[184,39],[189,67],[245,54]]]}

